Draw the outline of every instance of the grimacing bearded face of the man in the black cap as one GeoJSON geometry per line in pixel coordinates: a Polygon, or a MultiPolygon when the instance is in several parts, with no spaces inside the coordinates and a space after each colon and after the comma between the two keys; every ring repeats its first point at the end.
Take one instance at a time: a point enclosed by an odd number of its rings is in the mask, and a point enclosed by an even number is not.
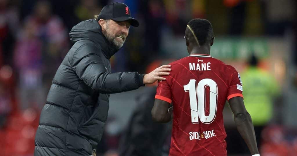
{"type": "Polygon", "coordinates": [[[120,22],[107,20],[102,30],[107,40],[112,43],[116,49],[120,49],[129,34],[129,27],[130,23],[128,21],[120,22]]]}

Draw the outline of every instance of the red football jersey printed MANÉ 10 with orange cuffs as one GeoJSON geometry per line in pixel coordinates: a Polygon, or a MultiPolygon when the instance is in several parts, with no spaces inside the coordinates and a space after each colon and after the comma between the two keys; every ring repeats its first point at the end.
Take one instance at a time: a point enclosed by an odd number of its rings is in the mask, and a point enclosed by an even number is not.
{"type": "Polygon", "coordinates": [[[227,155],[222,112],[226,100],[243,97],[239,73],[210,55],[190,55],[170,65],[155,96],[173,103],[169,155],[227,155]]]}

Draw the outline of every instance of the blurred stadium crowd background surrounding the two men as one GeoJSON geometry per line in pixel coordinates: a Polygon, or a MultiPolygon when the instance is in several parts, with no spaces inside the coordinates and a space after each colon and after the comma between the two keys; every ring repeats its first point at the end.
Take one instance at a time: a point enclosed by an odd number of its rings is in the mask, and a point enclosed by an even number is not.
{"type": "MultiPolygon", "coordinates": [[[[261,155],[297,155],[296,0],[0,0],[0,155],[33,155],[40,110],[72,46],[69,31],[110,2],[124,2],[140,21],[111,58],[113,72],[148,73],[187,56],[186,25],[206,18],[216,37],[211,55],[241,74],[261,155]]],[[[156,126],[148,115],[154,87],[110,96],[98,155],[119,155],[139,125],[135,145],[159,139],[158,150],[168,155],[171,125],[156,126]]],[[[249,155],[228,102],[224,120],[228,155],[249,155]]]]}

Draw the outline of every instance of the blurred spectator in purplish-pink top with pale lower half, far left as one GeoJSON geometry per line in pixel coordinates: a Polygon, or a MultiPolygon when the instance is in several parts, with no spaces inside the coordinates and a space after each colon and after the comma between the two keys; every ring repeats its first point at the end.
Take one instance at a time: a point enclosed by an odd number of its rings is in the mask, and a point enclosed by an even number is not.
{"type": "Polygon", "coordinates": [[[36,29],[34,23],[27,21],[14,51],[14,64],[19,73],[21,109],[32,106],[42,108],[45,100],[42,89],[42,42],[37,37],[36,29]]]}

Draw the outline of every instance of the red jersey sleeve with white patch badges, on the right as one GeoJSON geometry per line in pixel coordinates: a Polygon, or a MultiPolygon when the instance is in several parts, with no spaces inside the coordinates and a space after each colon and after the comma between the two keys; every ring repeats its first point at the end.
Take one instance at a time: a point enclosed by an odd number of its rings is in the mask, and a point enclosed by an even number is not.
{"type": "Polygon", "coordinates": [[[235,72],[230,76],[231,82],[228,88],[228,96],[227,100],[233,98],[233,97],[242,97],[242,81],[240,78],[239,73],[235,70],[235,72]]]}

